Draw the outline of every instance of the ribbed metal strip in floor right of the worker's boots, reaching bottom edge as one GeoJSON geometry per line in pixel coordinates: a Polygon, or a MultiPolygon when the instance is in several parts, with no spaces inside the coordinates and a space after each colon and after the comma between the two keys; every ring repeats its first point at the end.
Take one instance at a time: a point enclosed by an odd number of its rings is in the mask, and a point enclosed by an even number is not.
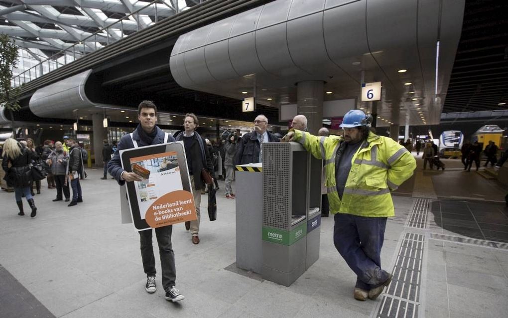
{"type": "Polygon", "coordinates": [[[377,317],[417,317],[425,235],[406,233],[377,317]]]}

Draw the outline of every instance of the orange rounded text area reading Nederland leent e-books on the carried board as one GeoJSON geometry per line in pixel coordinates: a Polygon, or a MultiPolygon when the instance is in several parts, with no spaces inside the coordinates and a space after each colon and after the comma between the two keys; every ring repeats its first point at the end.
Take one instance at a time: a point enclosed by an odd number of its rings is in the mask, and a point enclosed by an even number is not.
{"type": "Polygon", "coordinates": [[[196,220],[196,207],[192,193],[185,190],[166,193],[158,198],[145,213],[152,228],[196,220]]]}

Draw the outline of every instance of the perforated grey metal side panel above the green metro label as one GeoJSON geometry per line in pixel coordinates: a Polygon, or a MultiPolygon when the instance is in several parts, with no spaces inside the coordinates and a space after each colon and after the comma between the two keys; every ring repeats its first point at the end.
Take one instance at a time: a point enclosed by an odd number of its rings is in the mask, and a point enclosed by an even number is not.
{"type": "Polygon", "coordinates": [[[287,230],[291,213],[291,144],[263,143],[263,225],[287,230]]]}

